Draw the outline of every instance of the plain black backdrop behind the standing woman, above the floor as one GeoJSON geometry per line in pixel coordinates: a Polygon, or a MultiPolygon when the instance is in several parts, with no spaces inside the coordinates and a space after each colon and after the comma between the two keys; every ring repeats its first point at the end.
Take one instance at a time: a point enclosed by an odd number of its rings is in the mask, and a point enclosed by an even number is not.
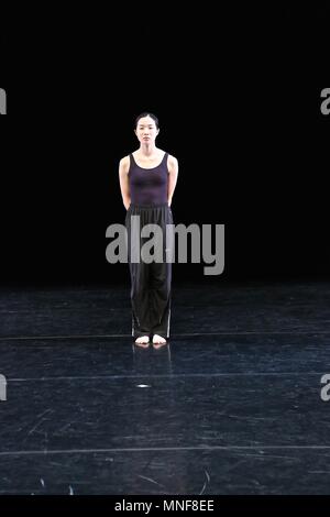
{"type": "Polygon", "coordinates": [[[128,280],[106,229],[144,110],[179,161],[175,222],[226,224],[224,273],[175,282],[329,278],[329,8],[182,11],[56,11],[1,36],[1,285],[128,280]]]}

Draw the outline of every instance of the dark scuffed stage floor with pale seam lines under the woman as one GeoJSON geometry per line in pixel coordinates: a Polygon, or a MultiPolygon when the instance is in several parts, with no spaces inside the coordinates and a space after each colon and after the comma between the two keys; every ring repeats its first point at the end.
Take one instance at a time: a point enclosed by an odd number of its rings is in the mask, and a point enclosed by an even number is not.
{"type": "Polygon", "coordinates": [[[141,350],[129,286],[2,290],[0,494],[330,494],[329,309],[329,282],[174,286],[141,350]]]}

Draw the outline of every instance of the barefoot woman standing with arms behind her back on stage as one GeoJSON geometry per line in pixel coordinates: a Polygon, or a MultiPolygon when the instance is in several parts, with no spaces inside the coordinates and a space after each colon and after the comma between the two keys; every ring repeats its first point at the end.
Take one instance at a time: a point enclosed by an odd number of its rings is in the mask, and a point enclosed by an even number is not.
{"type": "Polygon", "coordinates": [[[131,273],[132,336],[136,344],[146,348],[151,336],[154,344],[165,344],[169,338],[172,263],[166,260],[146,263],[141,257],[135,262],[132,260],[131,243],[138,240],[141,250],[145,242],[141,238],[142,228],[150,223],[158,224],[163,230],[162,254],[165,257],[166,224],[173,224],[169,207],[178,163],[156,146],[160,129],[158,119],[153,113],[141,113],[135,120],[134,132],[140,147],[120,161],[119,179],[128,210],[125,226],[131,273]],[[140,217],[139,235],[132,216],[140,217]]]}

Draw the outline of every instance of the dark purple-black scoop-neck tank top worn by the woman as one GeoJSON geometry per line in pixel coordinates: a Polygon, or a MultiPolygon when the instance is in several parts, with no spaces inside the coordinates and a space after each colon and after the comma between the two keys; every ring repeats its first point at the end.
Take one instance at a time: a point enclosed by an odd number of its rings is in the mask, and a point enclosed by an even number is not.
{"type": "Polygon", "coordinates": [[[130,154],[130,193],[132,205],[163,205],[167,202],[168,153],[165,153],[160,165],[153,168],[140,167],[133,154],[130,154]]]}

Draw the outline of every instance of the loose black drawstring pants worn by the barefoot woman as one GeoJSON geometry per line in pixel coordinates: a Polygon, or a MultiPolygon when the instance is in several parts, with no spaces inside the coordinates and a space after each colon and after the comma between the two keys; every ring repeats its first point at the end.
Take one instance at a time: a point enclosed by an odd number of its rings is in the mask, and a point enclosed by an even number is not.
{"type": "Polygon", "coordinates": [[[132,336],[136,339],[158,334],[167,339],[174,257],[172,210],[167,204],[131,205],[125,227],[131,275],[132,336]],[[146,228],[147,224],[156,227],[146,228]]]}

